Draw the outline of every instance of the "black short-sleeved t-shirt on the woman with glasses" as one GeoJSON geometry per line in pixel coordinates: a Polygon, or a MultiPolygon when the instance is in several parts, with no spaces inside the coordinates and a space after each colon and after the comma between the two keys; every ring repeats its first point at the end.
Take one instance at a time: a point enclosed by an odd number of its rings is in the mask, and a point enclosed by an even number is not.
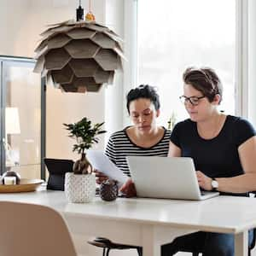
{"type": "Polygon", "coordinates": [[[195,162],[195,170],[208,177],[234,177],[243,174],[238,147],[256,135],[245,119],[228,115],[217,137],[203,139],[196,123],[186,119],[175,125],[170,140],[181,148],[182,156],[195,162]]]}

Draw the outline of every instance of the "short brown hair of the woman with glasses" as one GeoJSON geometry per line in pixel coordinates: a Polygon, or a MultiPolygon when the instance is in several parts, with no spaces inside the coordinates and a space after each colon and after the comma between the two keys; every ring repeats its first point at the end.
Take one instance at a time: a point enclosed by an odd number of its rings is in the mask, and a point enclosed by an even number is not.
{"type": "Polygon", "coordinates": [[[222,100],[223,87],[218,75],[210,67],[195,68],[189,67],[183,73],[183,82],[192,85],[196,90],[200,90],[209,102],[213,102],[217,94],[222,100]]]}

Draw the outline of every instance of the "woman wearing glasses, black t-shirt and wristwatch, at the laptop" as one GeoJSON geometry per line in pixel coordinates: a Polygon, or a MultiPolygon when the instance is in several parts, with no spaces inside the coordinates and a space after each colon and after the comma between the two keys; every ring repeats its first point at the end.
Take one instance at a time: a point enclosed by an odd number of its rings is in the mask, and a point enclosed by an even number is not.
{"type": "MultiPolygon", "coordinates": [[[[223,195],[247,195],[256,190],[256,133],[240,117],[218,111],[222,84],[211,68],[188,68],[180,97],[189,119],[178,123],[170,137],[169,156],[193,158],[201,189],[223,195]]],[[[214,214],[212,212],[211,214],[214,214]]],[[[249,244],[253,232],[249,231],[249,244]]],[[[196,232],[162,247],[162,256],[200,250],[205,256],[233,256],[234,236],[196,232]]]]}

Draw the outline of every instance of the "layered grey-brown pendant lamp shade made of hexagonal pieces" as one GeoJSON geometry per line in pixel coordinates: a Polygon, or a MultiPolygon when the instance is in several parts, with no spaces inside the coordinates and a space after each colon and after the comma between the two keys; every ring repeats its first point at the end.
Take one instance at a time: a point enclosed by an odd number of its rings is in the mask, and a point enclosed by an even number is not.
{"type": "Polygon", "coordinates": [[[115,70],[122,68],[123,40],[95,21],[67,20],[41,36],[34,72],[63,91],[98,91],[112,84],[115,70]]]}

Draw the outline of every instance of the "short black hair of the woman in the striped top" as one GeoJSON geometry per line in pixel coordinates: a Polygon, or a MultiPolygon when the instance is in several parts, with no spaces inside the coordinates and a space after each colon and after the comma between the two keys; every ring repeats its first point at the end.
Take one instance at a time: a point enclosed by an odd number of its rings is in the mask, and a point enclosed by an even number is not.
{"type": "Polygon", "coordinates": [[[130,103],[140,98],[150,100],[154,104],[155,110],[160,108],[159,95],[157,94],[154,87],[148,84],[141,84],[138,87],[131,89],[126,96],[126,108],[129,114],[130,103]]]}

